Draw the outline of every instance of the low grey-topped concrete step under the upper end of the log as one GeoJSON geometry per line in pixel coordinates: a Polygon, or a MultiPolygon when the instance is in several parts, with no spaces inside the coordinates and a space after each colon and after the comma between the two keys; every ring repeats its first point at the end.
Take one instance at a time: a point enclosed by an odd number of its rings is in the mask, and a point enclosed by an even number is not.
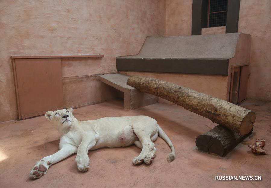
{"type": "Polygon", "coordinates": [[[99,75],[99,80],[124,93],[124,109],[134,110],[150,104],[155,104],[158,97],[140,92],[137,88],[126,84],[130,76],[114,73],[99,75]]]}

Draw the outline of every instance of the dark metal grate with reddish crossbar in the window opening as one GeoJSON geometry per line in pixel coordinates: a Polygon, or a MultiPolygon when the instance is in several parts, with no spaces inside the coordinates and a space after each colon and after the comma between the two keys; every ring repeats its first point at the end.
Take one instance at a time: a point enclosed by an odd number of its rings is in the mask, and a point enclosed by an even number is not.
{"type": "Polygon", "coordinates": [[[226,25],[228,0],[209,0],[208,27],[226,25]]]}

